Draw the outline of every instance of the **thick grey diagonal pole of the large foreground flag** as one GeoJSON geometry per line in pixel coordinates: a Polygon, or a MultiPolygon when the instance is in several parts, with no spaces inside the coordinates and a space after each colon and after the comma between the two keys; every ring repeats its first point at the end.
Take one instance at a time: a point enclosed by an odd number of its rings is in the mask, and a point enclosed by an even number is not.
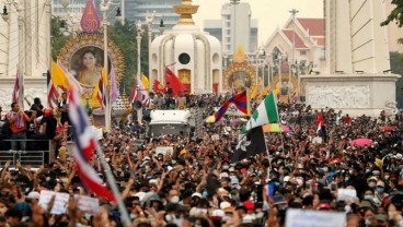
{"type": "Polygon", "coordinates": [[[107,183],[110,184],[111,190],[112,190],[113,194],[115,195],[115,199],[116,199],[116,202],[117,202],[117,207],[119,208],[119,212],[120,212],[120,215],[122,215],[122,220],[125,224],[125,226],[130,226],[131,222],[130,222],[129,215],[126,211],[126,206],[123,203],[120,192],[117,189],[116,183],[115,183],[116,182],[115,178],[112,175],[111,167],[110,167],[110,165],[107,165],[107,163],[104,158],[104,153],[102,152],[99,143],[95,143],[95,150],[96,150],[97,157],[101,160],[102,168],[105,171],[107,183]]]}

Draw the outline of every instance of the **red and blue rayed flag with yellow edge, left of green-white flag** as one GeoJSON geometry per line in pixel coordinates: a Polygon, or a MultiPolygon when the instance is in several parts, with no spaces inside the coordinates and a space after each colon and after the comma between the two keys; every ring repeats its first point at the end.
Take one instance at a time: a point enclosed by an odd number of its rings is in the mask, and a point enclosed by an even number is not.
{"type": "Polygon", "coordinates": [[[237,95],[232,96],[230,99],[226,100],[221,108],[215,113],[216,121],[218,122],[221,120],[223,115],[227,112],[227,110],[230,108],[235,108],[238,111],[249,115],[249,108],[247,108],[247,95],[246,91],[238,93],[237,95]]]}

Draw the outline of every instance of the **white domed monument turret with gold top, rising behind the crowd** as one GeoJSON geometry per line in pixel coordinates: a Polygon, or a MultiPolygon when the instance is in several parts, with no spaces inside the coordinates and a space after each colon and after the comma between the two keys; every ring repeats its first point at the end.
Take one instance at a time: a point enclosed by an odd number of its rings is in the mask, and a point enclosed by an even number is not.
{"type": "Polygon", "coordinates": [[[221,91],[221,45],[194,24],[192,14],[198,5],[189,0],[174,5],[181,19],[172,31],[153,39],[150,50],[150,81],[154,79],[165,85],[164,69],[170,69],[181,82],[194,94],[206,94],[221,91]]]}

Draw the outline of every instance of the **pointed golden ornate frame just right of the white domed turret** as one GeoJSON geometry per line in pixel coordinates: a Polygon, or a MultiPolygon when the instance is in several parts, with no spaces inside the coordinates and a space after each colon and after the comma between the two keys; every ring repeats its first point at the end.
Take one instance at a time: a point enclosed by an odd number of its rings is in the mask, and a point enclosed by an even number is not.
{"type": "Polygon", "coordinates": [[[233,62],[226,69],[222,83],[224,89],[237,92],[244,88],[252,91],[257,85],[256,69],[246,61],[241,46],[237,48],[233,62]]]}

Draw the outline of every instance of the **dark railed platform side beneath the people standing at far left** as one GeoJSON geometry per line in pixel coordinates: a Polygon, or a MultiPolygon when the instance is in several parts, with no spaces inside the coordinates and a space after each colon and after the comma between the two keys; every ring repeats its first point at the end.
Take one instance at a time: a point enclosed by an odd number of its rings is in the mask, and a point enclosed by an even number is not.
{"type": "Polygon", "coordinates": [[[49,163],[50,148],[53,146],[49,140],[3,140],[0,141],[0,166],[11,160],[11,165],[15,166],[20,160],[22,166],[31,165],[31,167],[39,167],[49,163]],[[25,142],[25,151],[11,150],[11,142],[25,142]]]}

